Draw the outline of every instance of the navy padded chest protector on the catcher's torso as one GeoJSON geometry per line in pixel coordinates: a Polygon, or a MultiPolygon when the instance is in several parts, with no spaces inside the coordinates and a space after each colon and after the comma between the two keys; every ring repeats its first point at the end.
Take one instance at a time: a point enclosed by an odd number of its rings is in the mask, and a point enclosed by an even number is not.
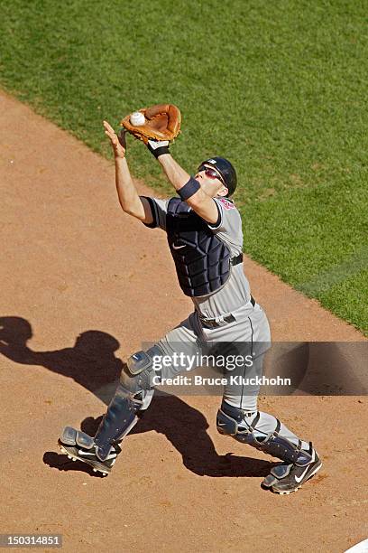
{"type": "Polygon", "coordinates": [[[166,232],[185,295],[216,292],[230,277],[231,266],[243,260],[242,254],[232,259],[230,248],[179,198],[171,198],[168,204],[166,232]]]}

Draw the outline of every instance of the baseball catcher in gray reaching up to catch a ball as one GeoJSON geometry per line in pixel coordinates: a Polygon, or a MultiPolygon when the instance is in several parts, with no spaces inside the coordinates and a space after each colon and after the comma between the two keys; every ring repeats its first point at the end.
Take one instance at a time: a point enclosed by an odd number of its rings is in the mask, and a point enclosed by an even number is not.
{"type": "MultiPolygon", "coordinates": [[[[270,346],[270,327],[261,305],[251,295],[244,276],[243,232],[239,211],[233,202],[236,173],[233,164],[220,156],[205,159],[190,176],[170,155],[170,142],[179,134],[180,112],[172,105],[144,108],[125,117],[118,137],[104,121],[106,136],[115,154],[115,182],[120,205],[147,229],[166,232],[179,286],[194,306],[193,313],[146,351],[136,351],[122,371],[115,396],[97,429],[88,436],[66,426],[60,448],[103,474],[111,472],[120,443],[139,420],[137,414],[149,408],[157,379],[178,374],[174,354],[188,355],[203,348],[248,347],[252,368],[244,363],[241,377],[262,370],[270,346]],[[135,116],[135,117],[133,117],[135,116]],[[139,196],[126,161],[125,133],[142,140],[161,164],[175,195],[167,200],[139,196]],[[245,344],[245,345],[244,345],[245,344]],[[172,366],[160,371],[154,360],[170,356],[172,366]]],[[[257,408],[259,387],[225,384],[216,425],[224,436],[251,445],[281,459],[262,482],[277,493],[295,492],[321,467],[311,442],[290,431],[280,420],[257,408]]],[[[195,439],[195,436],[194,436],[195,439]]]]}

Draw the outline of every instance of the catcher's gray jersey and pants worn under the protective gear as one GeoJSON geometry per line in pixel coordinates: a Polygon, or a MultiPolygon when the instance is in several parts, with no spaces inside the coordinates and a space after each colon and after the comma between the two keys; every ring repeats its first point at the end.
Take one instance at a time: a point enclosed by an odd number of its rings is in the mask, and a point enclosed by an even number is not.
{"type": "MultiPolygon", "coordinates": [[[[166,216],[169,200],[152,198],[153,223],[151,228],[159,227],[166,230],[166,216]]],[[[242,220],[235,204],[226,198],[214,198],[219,212],[216,225],[208,223],[216,236],[230,248],[232,256],[237,256],[243,248],[242,220]]],[[[158,342],[166,355],[171,357],[176,353],[184,352],[194,356],[198,349],[206,344],[221,342],[241,342],[264,344],[262,353],[267,350],[271,342],[270,326],[266,314],[258,304],[251,303],[250,286],[244,275],[243,264],[232,267],[230,277],[219,290],[213,294],[191,298],[195,307],[194,313],[179,323],[158,342]],[[226,323],[224,317],[232,314],[234,321],[226,323]],[[219,326],[208,328],[206,321],[216,320],[219,326]]],[[[256,374],[262,372],[263,354],[254,361],[253,370],[256,374]]],[[[184,370],[184,368],[182,369],[184,370]]],[[[188,370],[188,369],[187,369],[188,370]]],[[[243,369],[242,369],[243,370],[243,369]]],[[[164,379],[176,376],[178,366],[161,368],[161,377],[164,379]]],[[[244,372],[244,376],[248,376],[244,372]]],[[[247,422],[251,425],[258,416],[255,436],[267,436],[277,426],[277,419],[267,413],[258,411],[257,396],[259,387],[225,385],[224,400],[235,408],[242,408],[247,412],[247,422]]],[[[298,445],[299,438],[281,423],[279,435],[298,445]]],[[[301,442],[303,449],[308,449],[307,442],[301,442]]]]}

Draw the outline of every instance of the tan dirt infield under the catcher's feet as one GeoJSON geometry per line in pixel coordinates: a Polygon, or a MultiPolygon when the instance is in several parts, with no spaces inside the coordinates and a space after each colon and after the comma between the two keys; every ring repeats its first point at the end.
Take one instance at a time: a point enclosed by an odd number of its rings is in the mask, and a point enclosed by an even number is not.
{"type": "MultiPolygon", "coordinates": [[[[60,455],[62,426],[93,432],[120,360],[191,302],[163,233],[121,211],[113,164],[5,94],[0,120],[0,532],[62,534],[78,552],[338,552],[367,538],[366,397],[262,398],[324,461],[289,496],[260,488],[271,457],[217,434],[216,397],[154,398],[106,479],[60,455]]],[[[274,340],[364,340],[244,265],[274,340]]]]}

